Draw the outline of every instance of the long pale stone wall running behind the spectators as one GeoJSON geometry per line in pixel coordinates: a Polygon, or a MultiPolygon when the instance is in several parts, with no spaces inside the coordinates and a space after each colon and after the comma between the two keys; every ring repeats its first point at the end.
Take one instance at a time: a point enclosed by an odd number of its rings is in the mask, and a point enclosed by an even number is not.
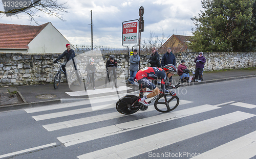
{"type": "MultiPolygon", "coordinates": [[[[92,52],[84,54],[84,58],[77,60],[78,68],[82,76],[86,77],[86,68],[90,58],[95,59],[96,80],[104,80],[106,76],[105,62],[111,54],[114,54],[118,61],[118,77],[124,79],[127,77],[127,52],[124,51],[101,51],[102,54],[95,56],[92,52]]],[[[0,54],[0,86],[21,86],[49,84],[53,82],[59,64],[53,64],[53,61],[59,55],[24,55],[24,54],[0,54]]],[[[176,54],[176,66],[180,61],[186,61],[188,69],[194,70],[194,59],[198,52],[188,52],[176,54]]],[[[162,55],[160,55],[160,58],[162,55]]],[[[256,67],[256,52],[205,52],[206,63],[205,71],[221,69],[239,69],[247,67],[256,67]]],[[[150,55],[141,55],[140,68],[149,66],[147,61],[150,55]]],[[[62,60],[63,62],[63,60],[62,60]]],[[[130,72],[130,71],[129,71],[130,72]]],[[[62,78],[65,80],[65,78],[62,78]]]]}

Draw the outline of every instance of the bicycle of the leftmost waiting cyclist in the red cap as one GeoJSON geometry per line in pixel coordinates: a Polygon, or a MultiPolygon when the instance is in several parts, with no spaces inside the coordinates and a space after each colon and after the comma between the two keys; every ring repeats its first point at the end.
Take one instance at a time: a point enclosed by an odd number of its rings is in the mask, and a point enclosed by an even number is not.
{"type": "MultiPolygon", "coordinates": [[[[55,77],[54,77],[54,81],[53,81],[53,87],[54,89],[57,89],[59,87],[60,81],[61,81],[61,73],[65,74],[65,72],[62,70],[62,65],[66,66],[66,63],[60,63],[57,62],[58,64],[60,64],[59,66],[59,70],[56,73],[55,77]]],[[[66,76],[67,80],[69,83],[71,83],[74,86],[81,86],[81,72],[80,70],[75,70],[75,69],[67,69],[67,75],[66,76]]]]}

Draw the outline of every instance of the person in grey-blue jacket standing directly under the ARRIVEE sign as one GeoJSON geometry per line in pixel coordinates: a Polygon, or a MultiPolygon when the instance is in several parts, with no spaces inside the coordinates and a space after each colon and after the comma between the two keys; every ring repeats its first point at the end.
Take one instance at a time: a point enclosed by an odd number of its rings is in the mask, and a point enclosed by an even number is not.
{"type": "Polygon", "coordinates": [[[134,54],[130,57],[130,78],[127,80],[130,85],[134,85],[134,77],[139,70],[140,56],[137,55],[137,49],[133,50],[134,54]]]}

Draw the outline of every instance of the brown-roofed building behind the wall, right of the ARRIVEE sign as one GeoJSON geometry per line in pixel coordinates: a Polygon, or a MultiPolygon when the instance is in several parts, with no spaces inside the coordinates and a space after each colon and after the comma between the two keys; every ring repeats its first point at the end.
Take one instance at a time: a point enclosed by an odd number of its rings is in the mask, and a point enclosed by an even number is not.
{"type": "Polygon", "coordinates": [[[191,36],[184,35],[172,35],[162,46],[167,50],[168,47],[172,48],[173,53],[177,52],[187,52],[189,51],[187,43],[189,43],[189,39],[191,36]]]}

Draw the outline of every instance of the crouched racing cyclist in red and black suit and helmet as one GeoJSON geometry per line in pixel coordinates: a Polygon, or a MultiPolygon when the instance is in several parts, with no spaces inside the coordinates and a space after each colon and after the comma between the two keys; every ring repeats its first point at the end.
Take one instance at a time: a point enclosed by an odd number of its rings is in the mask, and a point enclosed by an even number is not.
{"type": "Polygon", "coordinates": [[[167,77],[169,78],[170,76],[174,75],[175,72],[177,72],[177,68],[173,64],[165,65],[163,69],[157,67],[145,67],[139,70],[135,78],[141,85],[142,90],[140,90],[140,93],[144,95],[146,88],[149,88],[153,91],[150,94],[143,96],[138,101],[147,106],[148,103],[145,101],[145,99],[152,98],[160,93],[169,93],[175,96],[175,92],[165,90],[165,82],[167,77]],[[153,80],[154,84],[150,80],[153,80]],[[157,80],[161,80],[161,82],[158,83],[157,80]],[[155,84],[160,84],[161,90],[156,87],[155,84]]]}

